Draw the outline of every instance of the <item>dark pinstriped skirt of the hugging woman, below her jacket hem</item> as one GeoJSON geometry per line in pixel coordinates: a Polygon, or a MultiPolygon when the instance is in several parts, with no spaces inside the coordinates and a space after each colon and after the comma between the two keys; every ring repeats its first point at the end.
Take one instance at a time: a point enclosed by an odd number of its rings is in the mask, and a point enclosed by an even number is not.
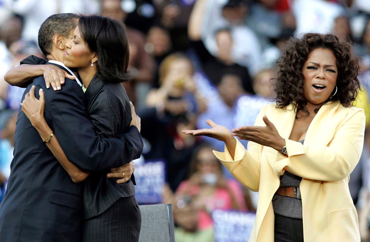
{"type": "Polygon", "coordinates": [[[104,213],[85,220],[82,241],[135,242],[140,227],[141,214],[135,197],[120,198],[104,213]]]}

